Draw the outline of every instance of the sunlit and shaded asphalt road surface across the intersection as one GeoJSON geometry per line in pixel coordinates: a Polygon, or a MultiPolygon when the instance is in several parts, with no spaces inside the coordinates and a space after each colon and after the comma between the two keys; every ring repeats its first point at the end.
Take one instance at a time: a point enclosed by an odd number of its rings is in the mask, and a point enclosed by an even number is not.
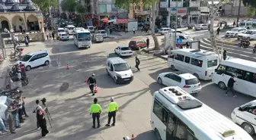
{"type": "MultiPolygon", "coordinates": [[[[139,38],[139,37],[138,37],[139,38]]],[[[150,38],[151,39],[151,38],[150,38]]],[[[119,140],[123,136],[136,136],[136,140],[155,140],[149,123],[152,106],[152,94],[163,86],[158,85],[156,77],[159,73],[171,71],[167,62],[153,57],[150,54],[136,52],[141,61],[141,71],[135,70],[135,58],[125,58],[132,67],[134,80],[130,84],[117,85],[107,76],[104,64],[108,57],[117,56],[114,48],[117,45],[127,45],[129,40],[104,42],[94,44],[89,49],[78,49],[72,41],[36,42],[31,43],[25,51],[47,49],[50,51],[52,63],[47,67],[38,67],[30,70],[30,83],[24,87],[27,97],[26,107],[30,115],[17,134],[0,135],[5,140],[37,140],[40,131],[35,130],[36,118],[32,114],[35,100],[46,98],[46,104],[53,117],[53,128],[47,140],[119,140]],[[69,64],[69,70],[66,66],[69,64]],[[96,97],[103,107],[101,114],[101,128],[91,129],[91,116],[88,114],[93,98],[85,84],[85,77],[95,73],[98,80],[98,94],[96,97]],[[107,103],[114,97],[120,105],[117,113],[117,124],[114,127],[105,127],[107,123],[107,103]]],[[[254,98],[239,93],[237,98],[231,95],[226,97],[222,89],[209,81],[201,81],[203,89],[197,98],[213,107],[220,114],[230,117],[232,110],[254,98]]]]}

